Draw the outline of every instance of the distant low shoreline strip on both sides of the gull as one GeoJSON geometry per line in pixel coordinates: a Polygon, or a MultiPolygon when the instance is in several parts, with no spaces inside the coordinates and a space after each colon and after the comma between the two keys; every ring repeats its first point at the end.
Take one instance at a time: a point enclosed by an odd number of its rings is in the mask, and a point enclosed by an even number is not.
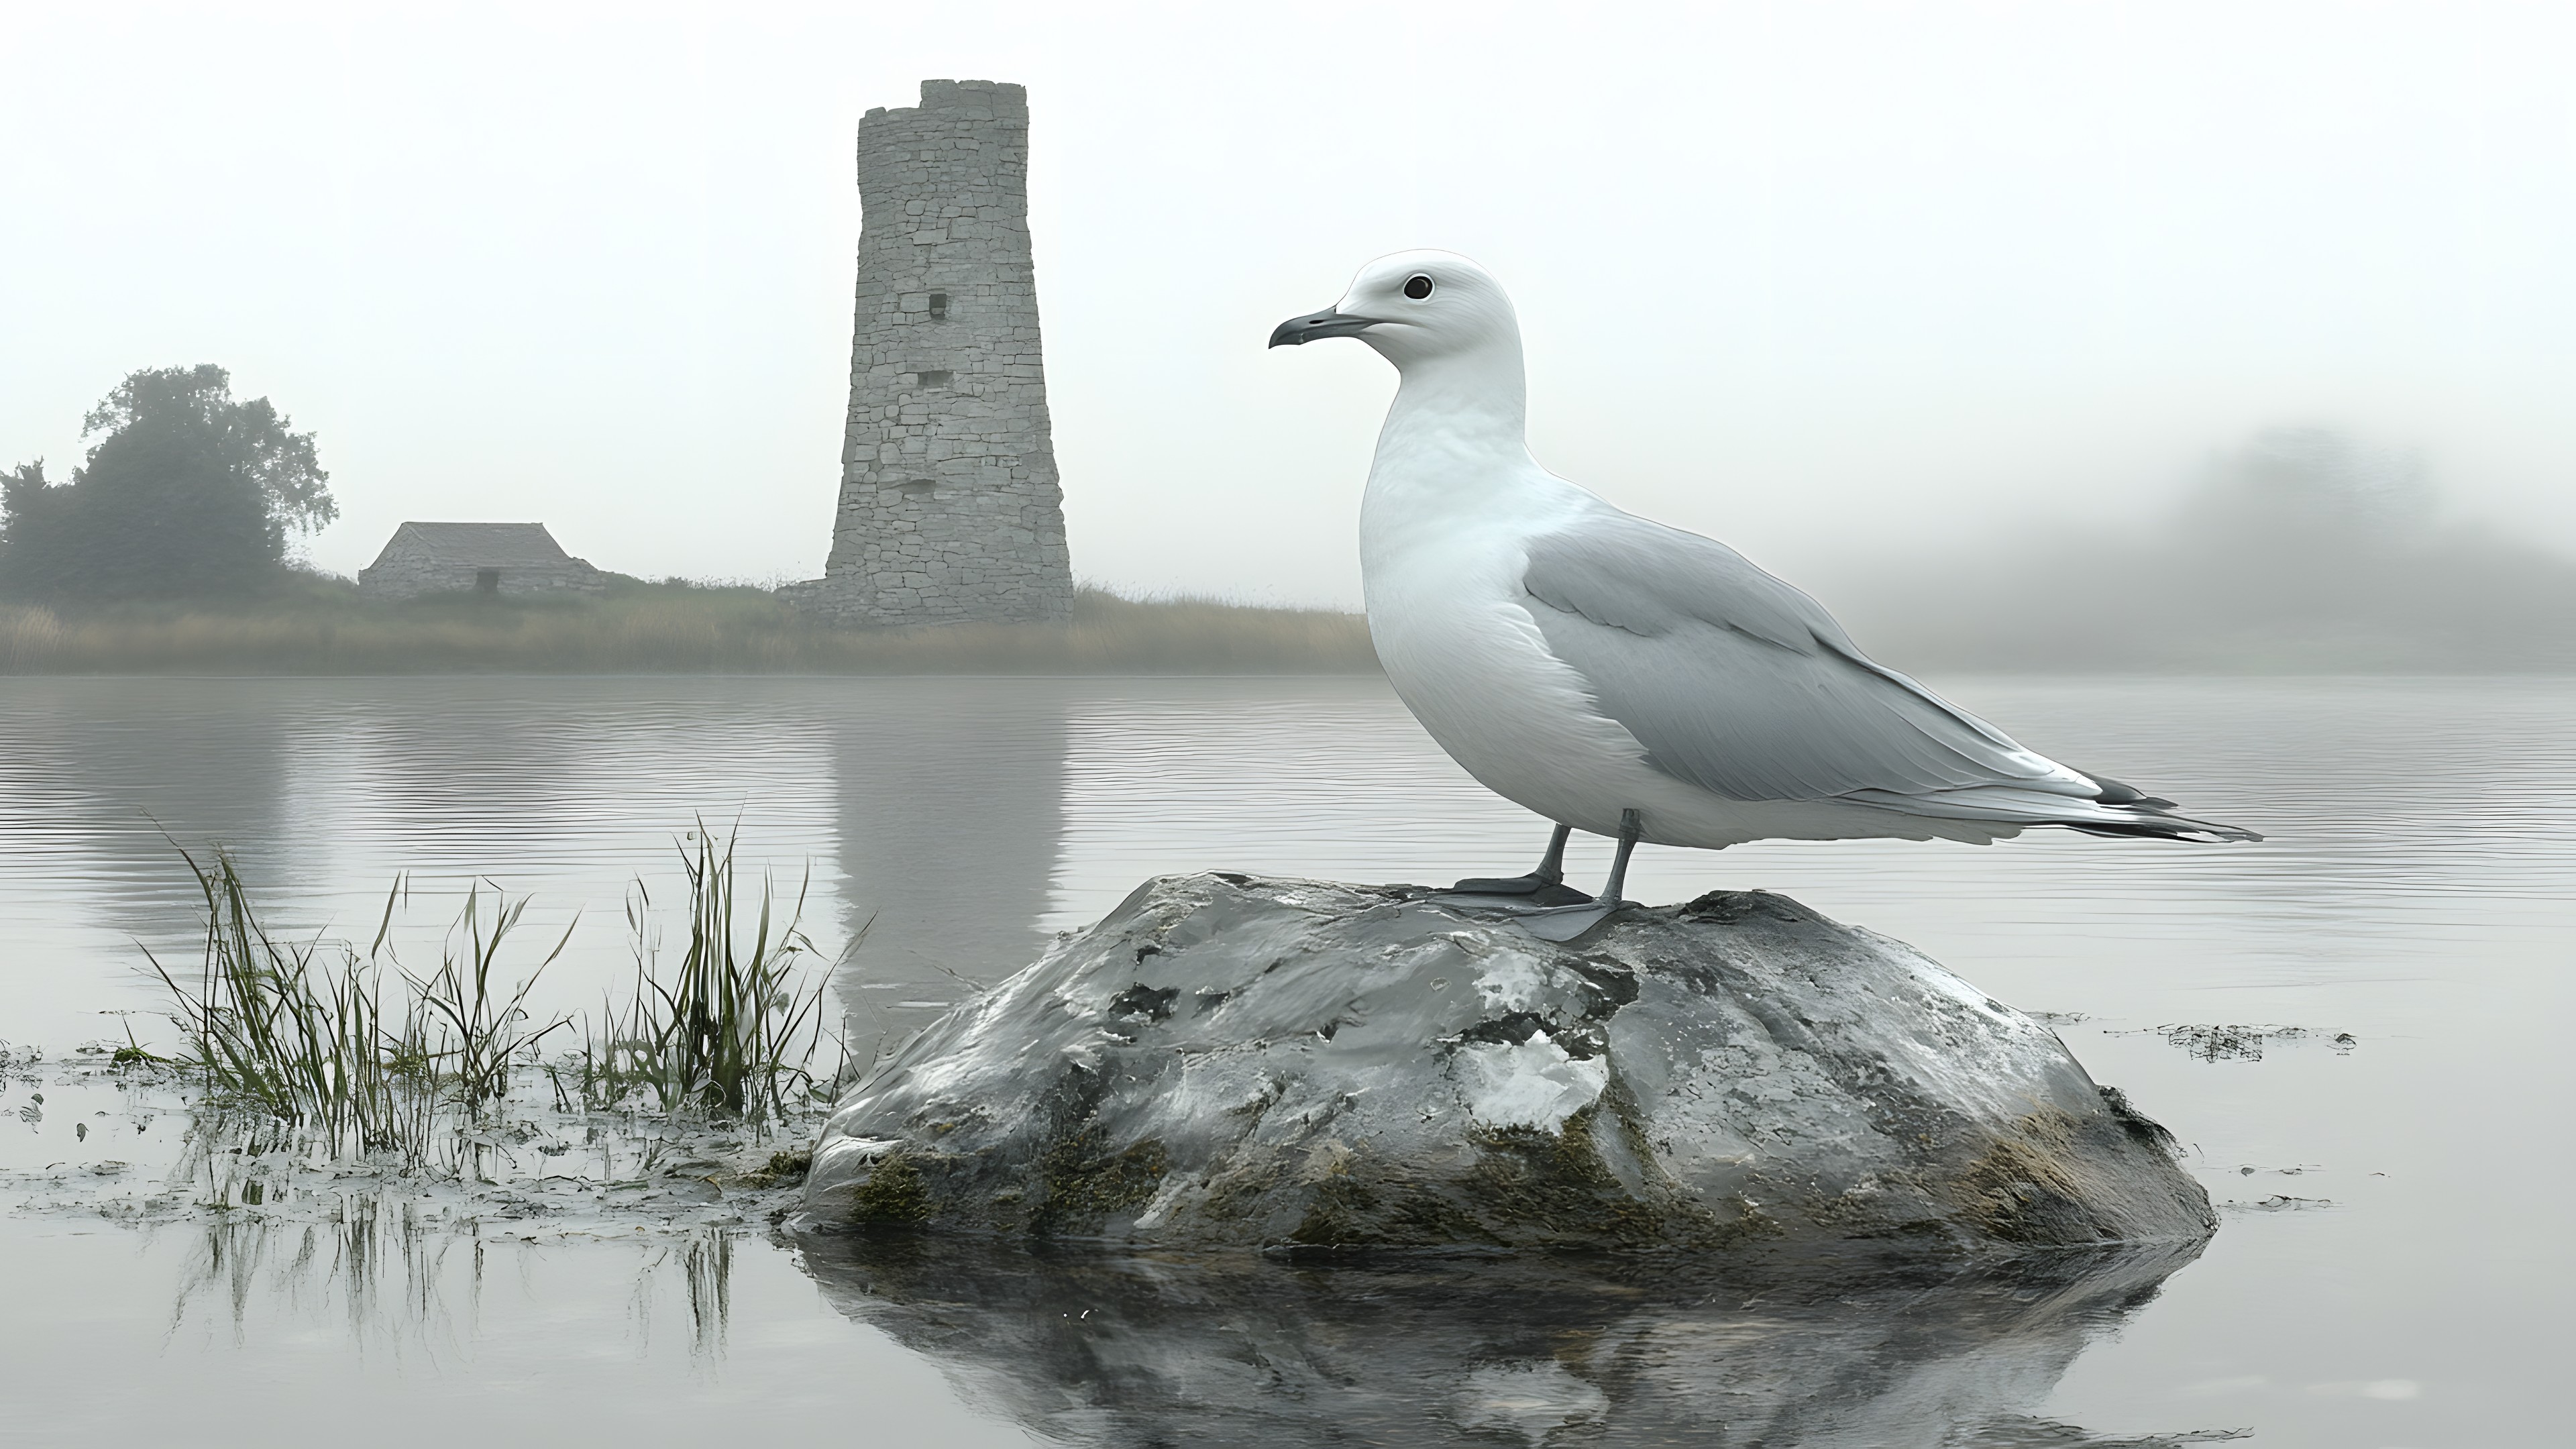
{"type": "MultiPolygon", "coordinates": [[[[1917,678],[2568,678],[2576,650],[2367,629],[2174,629],[2079,650],[2030,627],[1865,619],[1917,678]],[[1873,627],[1875,624],[1875,627],[1873,627]],[[2148,647],[2154,645],[2154,647],[2148,647]],[[2063,660],[2063,663],[2061,663],[2063,660]]],[[[240,603],[0,603],[8,676],[1381,676],[1368,619],[1082,588],[1069,624],[835,629],[760,588],[618,580],[600,598],[361,601],[337,580],[240,603]]]]}

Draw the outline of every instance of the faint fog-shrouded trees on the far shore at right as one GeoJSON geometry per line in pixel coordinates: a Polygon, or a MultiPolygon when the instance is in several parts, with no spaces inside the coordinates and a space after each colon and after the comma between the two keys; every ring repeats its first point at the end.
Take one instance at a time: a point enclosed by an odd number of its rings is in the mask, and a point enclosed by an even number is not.
{"type": "Polygon", "coordinates": [[[1811,583],[1917,670],[2576,668],[2576,559],[2447,516],[2416,454],[2331,428],[2254,433],[2136,526],[1999,526],[1811,583]]]}

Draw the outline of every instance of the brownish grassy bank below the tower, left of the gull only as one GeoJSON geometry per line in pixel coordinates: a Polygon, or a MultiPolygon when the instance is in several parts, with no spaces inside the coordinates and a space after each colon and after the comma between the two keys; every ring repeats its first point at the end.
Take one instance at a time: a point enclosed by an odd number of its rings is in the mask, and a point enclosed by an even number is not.
{"type": "Polygon", "coordinates": [[[1123,598],[1066,624],[835,629],[760,588],[621,580],[598,598],[350,585],[237,603],[0,603],[0,673],[1376,673],[1368,621],[1329,608],[1123,598]]]}

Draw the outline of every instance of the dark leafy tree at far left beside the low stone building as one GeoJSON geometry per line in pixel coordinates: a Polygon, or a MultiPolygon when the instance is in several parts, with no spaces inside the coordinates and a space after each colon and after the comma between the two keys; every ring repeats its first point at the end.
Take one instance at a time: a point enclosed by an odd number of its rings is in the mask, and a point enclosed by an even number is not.
{"type": "Polygon", "coordinates": [[[276,578],[286,529],[340,516],[312,433],[234,402],[219,366],[144,369],[82,420],[72,482],[0,474],[0,588],[54,598],[191,598],[276,578]]]}

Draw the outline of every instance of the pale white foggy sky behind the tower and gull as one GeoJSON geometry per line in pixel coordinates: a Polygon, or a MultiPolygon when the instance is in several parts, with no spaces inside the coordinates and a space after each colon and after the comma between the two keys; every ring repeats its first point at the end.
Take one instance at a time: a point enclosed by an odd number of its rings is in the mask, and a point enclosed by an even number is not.
{"type": "Polygon", "coordinates": [[[2566,8],[1569,10],[13,5],[0,464],[214,361],[319,431],[325,567],[541,518],[814,575],[855,121],[989,77],[1113,585],[1358,601],[1394,374],[1262,340],[1414,245],[1512,286],[1540,462],[1790,578],[2143,516],[2300,423],[2576,549],[2566,8]]]}

